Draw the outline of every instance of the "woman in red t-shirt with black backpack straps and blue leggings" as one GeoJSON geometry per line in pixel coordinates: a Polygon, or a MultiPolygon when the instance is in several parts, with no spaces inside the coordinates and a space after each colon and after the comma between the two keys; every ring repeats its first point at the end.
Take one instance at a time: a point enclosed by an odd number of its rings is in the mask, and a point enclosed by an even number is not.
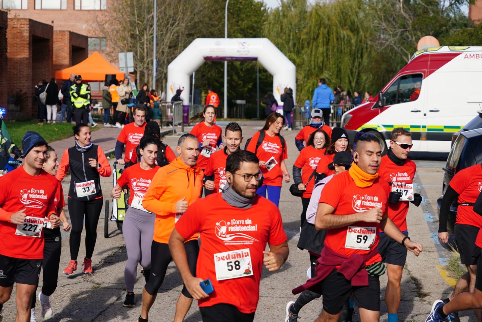
{"type": "Polygon", "coordinates": [[[276,206],[280,203],[281,183],[290,182],[290,174],[284,163],[288,159],[286,141],[280,136],[280,130],[284,126],[284,117],[277,112],[269,114],[265,126],[256,132],[251,138],[246,150],[256,154],[259,159],[259,169],[263,174],[263,185],[256,193],[266,197],[276,206]],[[259,135],[264,132],[265,136],[259,146],[259,135]],[[281,142],[283,140],[283,142],[281,142]],[[257,147],[256,147],[257,146],[257,147]]]}

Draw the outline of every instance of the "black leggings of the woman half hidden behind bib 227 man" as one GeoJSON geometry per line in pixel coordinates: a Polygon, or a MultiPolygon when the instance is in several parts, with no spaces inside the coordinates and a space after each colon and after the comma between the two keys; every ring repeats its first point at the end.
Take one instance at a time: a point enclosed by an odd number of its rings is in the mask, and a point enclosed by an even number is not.
{"type": "MultiPolygon", "coordinates": [[[[57,277],[59,274],[60,254],[62,252],[62,237],[58,236],[58,241],[45,240],[43,246],[43,259],[42,259],[42,294],[50,296],[54,294],[57,288],[57,277]]],[[[35,308],[35,302],[37,302],[37,288],[32,295],[32,308],[35,308]]]]}

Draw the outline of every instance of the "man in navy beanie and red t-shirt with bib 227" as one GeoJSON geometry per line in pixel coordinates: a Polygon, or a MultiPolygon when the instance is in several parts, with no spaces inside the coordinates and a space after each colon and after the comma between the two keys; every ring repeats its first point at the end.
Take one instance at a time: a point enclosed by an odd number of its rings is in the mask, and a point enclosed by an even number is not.
{"type": "Polygon", "coordinates": [[[39,284],[43,259],[43,228],[52,228],[56,215],[58,181],[42,170],[47,142],[28,131],[22,139],[24,164],[0,178],[0,320],[3,304],[17,285],[16,322],[30,321],[32,295],[39,284]]]}

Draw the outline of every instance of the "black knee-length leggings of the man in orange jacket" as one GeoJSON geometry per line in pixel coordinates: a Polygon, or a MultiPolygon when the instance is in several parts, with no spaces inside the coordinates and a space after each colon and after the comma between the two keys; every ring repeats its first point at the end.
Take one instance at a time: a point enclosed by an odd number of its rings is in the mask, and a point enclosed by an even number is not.
{"type": "MultiPolygon", "coordinates": [[[[189,265],[189,270],[191,271],[191,274],[193,276],[196,276],[196,264],[198,262],[199,255],[198,241],[186,241],[184,243],[184,249],[186,249],[187,265],[189,265]]],[[[168,244],[152,241],[150,271],[151,275],[149,276],[149,280],[144,287],[147,293],[152,296],[156,295],[157,291],[159,291],[159,288],[162,285],[162,282],[164,282],[167,267],[172,260],[173,256],[171,256],[168,244]]],[[[186,285],[184,285],[181,293],[188,298],[192,298],[189,292],[187,292],[186,285]]]]}

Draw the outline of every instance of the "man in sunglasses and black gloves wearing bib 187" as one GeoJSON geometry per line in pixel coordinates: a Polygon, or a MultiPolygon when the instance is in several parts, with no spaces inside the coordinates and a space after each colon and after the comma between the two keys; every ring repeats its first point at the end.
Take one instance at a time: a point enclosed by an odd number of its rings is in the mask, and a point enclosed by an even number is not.
{"type": "MultiPolygon", "coordinates": [[[[408,159],[412,146],[412,134],[409,131],[402,127],[393,129],[388,154],[382,158],[378,170],[378,174],[390,185],[388,217],[405,236],[408,236],[406,216],[409,202],[418,207],[422,201],[420,194],[414,193],[413,181],[417,167],[414,161],[408,159]]],[[[379,233],[379,238],[378,252],[387,264],[385,302],[388,322],[397,322],[401,296],[400,282],[407,249],[383,232],[379,233]]]]}

